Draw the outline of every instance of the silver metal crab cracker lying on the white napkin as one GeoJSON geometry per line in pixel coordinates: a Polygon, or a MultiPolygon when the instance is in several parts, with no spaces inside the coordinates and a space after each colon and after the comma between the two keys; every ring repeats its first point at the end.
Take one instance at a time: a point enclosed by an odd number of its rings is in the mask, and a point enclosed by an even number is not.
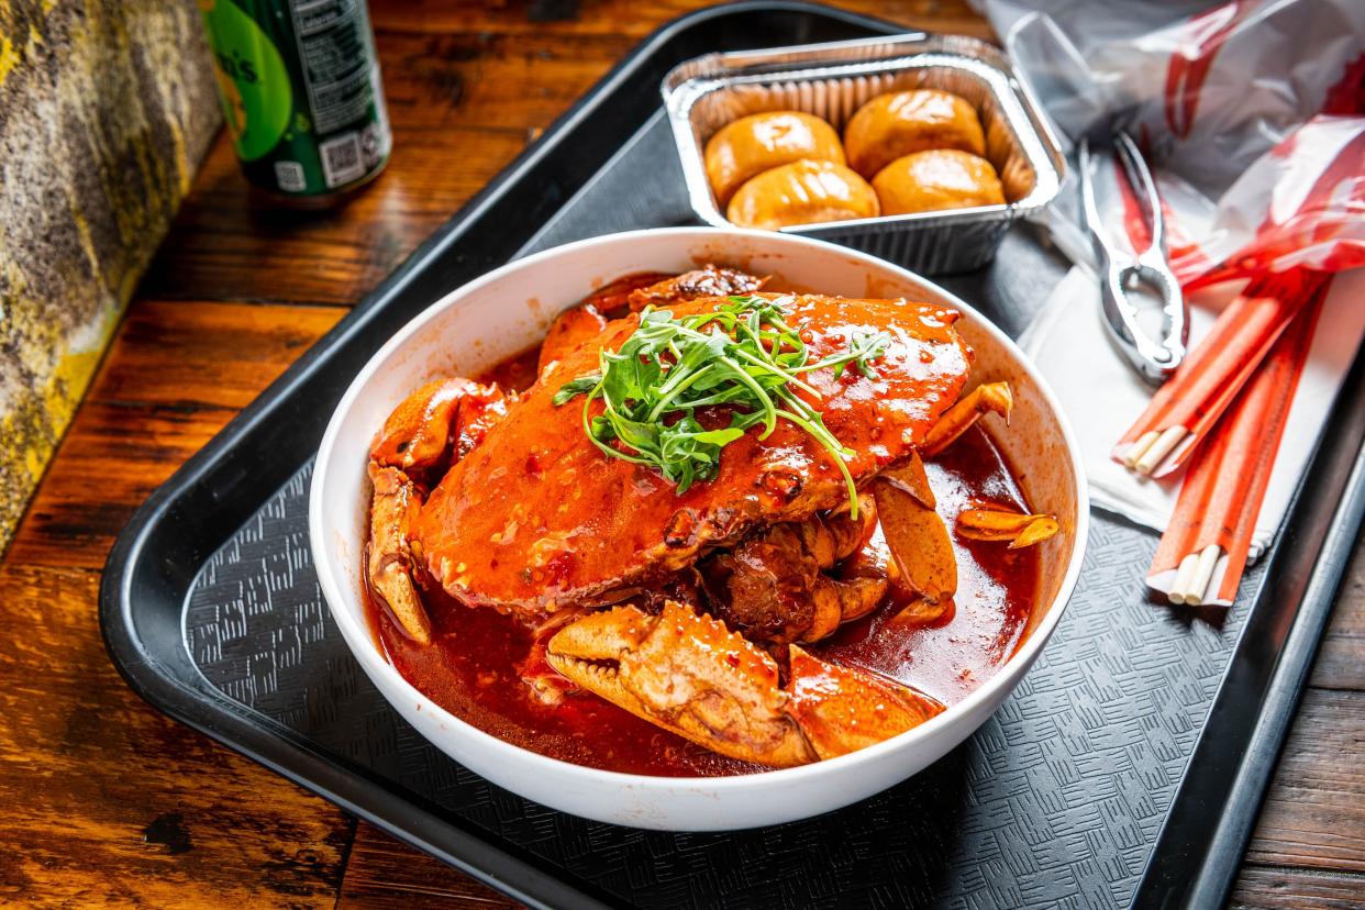
{"type": "Polygon", "coordinates": [[[1136,255],[1114,244],[1095,202],[1095,176],[1089,139],[1081,141],[1081,211],[1091,235],[1100,276],[1100,300],[1110,334],[1129,364],[1148,382],[1162,385],[1185,360],[1189,341],[1189,306],[1166,258],[1166,220],[1156,195],[1156,181],[1137,145],[1125,132],[1114,134],[1114,157],[1133,188],[1137,206],[1151,233],[1148,247],[1136,255]],[[1152,337],[1138,322],[1133,293],[1145,288],[1162,302],[1162,330],[1152,337]]]}

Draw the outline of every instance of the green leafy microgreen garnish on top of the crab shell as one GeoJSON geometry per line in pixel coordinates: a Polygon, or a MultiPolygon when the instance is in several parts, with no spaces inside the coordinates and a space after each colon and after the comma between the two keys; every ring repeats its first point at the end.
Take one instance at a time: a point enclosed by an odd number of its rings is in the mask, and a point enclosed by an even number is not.
{"type": "Polygon", "coordinates": [[[786,420],[834,456],[856,517],[857,490],[844,464],[853,452],[834,438],[820,412],[796,390],[818,400],[819,392],[801,375],[831,368],[841,377],[849,364],[875,378],[871,362],[882,356],[891,336],[860,330],[846,351],[811,360],[801,336],[785,321],[784,306],[792,300],[734,296],[711,312],[681,319],[669,310],[646,307],[625,344],[601,352],[599,372],[560,386],[554,404],[587,396],[583,430],[592,443],[613,458],[654,468],[678,493],[713,479],[721,449],[745,430],[762,424],[762,439],[778,420],[786,420]],[[588,407],[598,398],[603,411],[594,417],[588,407]],[[717,405],[730,408],[729,424],[707,430],[696,411],[717,405]]]}

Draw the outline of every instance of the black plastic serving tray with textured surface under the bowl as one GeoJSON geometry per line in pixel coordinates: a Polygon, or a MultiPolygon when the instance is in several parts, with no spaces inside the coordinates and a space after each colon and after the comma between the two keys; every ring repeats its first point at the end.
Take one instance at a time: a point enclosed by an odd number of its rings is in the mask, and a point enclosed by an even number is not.
{"type": "MultiPolygon", "coordinates": [[[[307,546],[313,454],[333,404],[393,332],[517,255],[692,224],[658,94],[681,60],[895,31],[824,7],[745,3],[646,40],[124,528],[100,603],[128,684],[531,905],[1222,902],[1365,512],[1361,362],[1234,610],[1148,603],[1155,536],[1097,513],[1066,617],[995,716],[912,780],[809,821],[670,835],[520,799],[389,709],[322,603],[307,546]]],[[[1063,270],[1021,226],[990,267],[943,284],[1017,334],[1063,270]]]]}

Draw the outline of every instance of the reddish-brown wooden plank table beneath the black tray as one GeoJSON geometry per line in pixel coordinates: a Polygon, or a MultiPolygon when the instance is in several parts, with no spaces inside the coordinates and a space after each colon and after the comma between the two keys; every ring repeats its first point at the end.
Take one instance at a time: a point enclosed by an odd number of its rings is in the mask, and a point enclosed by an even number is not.
{"type": "MultiPolygon", "coordinates": [[[[0,902],[506,903],[139,701],[105,655],[96,589],[158,483],[636,41],[702,4],[577,5],[371,0],[396,151],[341,211],[253,207],[213,147],[0,563],[0,902]]],[[[961,0],[846,5],[988,34],[961,0]]],[[[1365,902],[1362,759],[1357,551],[1235,903],[1365,902]]]]}

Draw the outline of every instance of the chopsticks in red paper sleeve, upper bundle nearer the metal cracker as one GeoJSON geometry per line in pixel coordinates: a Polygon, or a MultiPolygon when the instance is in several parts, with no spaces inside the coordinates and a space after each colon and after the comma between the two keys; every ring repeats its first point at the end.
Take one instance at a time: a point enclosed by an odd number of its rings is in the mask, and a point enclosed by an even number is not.
{"type": "Polygon", "coordinates": [[[1253,278],[1163,385],[1111,456],[1140,475],[1183,465],[1256,372],[1284,327],[1327,281],[1308,269],[1253,278]]]}

